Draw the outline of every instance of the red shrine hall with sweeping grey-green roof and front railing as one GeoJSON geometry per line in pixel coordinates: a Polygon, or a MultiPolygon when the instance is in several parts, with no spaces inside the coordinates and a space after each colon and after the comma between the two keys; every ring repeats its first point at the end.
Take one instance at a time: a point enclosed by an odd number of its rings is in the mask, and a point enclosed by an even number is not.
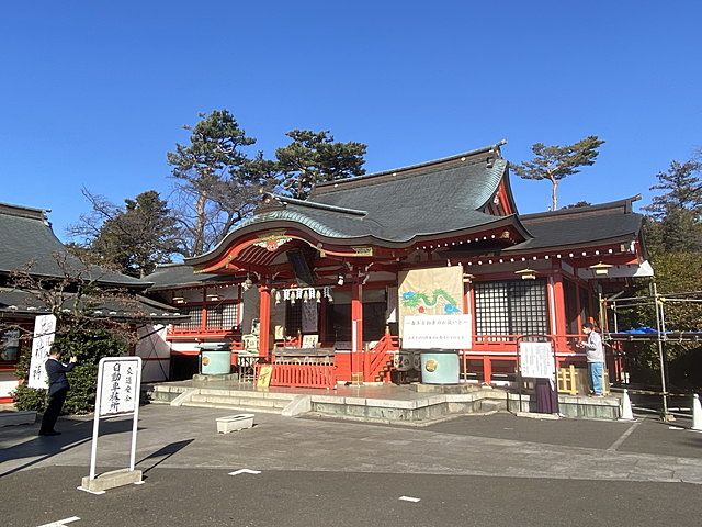
{"type": "MultiPolygon", "coordinates": [[[[272,384],[389,382],[403,348],[401,277],[455,268],[452,309],[471,317],[463,379],[509,379],[528,334],[552,337],[559,366],[584,363],[581,324],[602,325],[601,300],[653,274],[632,210],[639,197],[519,214],[501,145],[319,184],[307,200],[264,194],[214,250],[147,277],[171,305],[183,283],[200,288],[197,325],[172,326],[168,339],[227,337],[235,354],[272,366],[272,384]],[[231,319],[210,328],[207,310],[223,300],[231,319]]],[[[621,374],[615,357],[608,366],[621,374]]]]}

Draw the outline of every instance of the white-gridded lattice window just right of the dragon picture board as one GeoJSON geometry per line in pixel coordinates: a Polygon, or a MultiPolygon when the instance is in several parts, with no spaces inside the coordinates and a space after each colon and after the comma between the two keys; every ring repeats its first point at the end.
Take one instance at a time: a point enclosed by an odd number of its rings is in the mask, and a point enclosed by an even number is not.
{"type": "Polygon", "coordinates": [[[477,335],[548,333],[545,280],[475,283],[477,335]]]}

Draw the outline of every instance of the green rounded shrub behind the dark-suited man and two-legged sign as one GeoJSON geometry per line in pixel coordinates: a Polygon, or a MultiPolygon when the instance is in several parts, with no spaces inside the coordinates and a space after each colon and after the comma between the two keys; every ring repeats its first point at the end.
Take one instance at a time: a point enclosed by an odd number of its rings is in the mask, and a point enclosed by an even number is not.
{"type": "MultiPolygon", "coordinates": [[[[60,360],[68,361],[71,356],[78,358],[78,363],[67,374],[70,391],[64,404],[64,413],[86,414],[92,412],[95,407],[98,363],[103,357],[126,355],[126,343],[105,329],[86,329],[57,336],[56,344],[64,350],[60,360]]],[[[29,349],[25,350],[18,360],[18,377],[24,379],[25,382],[31,352],[29,349]]],[[[43,412],[46,408],[46,390],[35,390],[23,384],[14,391],[14,397],[18,410],[43,412]]]]}

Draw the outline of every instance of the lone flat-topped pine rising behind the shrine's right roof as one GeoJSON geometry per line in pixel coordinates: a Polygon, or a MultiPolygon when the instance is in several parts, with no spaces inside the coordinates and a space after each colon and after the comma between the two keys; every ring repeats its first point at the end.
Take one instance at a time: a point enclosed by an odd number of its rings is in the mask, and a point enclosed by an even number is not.
{"type": "Polygon", "coordinates": [[[513,165],[512,169],[523,179],[551,181],[551,210],[555,211],[558,209],[558,182],[567,176],[578,173],[580,167],[593,165],[599,155],[598,148],[603,143],[596,135],[566,146],[536,143],[531,147],[534,158],[513,165]]]}

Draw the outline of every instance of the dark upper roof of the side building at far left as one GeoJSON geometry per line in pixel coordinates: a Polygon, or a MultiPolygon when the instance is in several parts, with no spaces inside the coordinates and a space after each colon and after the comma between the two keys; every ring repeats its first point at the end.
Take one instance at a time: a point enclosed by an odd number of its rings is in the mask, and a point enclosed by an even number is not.
{"type": "Polygon", "coordinates": [[[0,203],[0,274],[27,270],[37,277],[95,280],[102,284],[146,289],[149,283],[110,271],[86,266],[56,237],[47,218],[48,210],[0,203]]]}

